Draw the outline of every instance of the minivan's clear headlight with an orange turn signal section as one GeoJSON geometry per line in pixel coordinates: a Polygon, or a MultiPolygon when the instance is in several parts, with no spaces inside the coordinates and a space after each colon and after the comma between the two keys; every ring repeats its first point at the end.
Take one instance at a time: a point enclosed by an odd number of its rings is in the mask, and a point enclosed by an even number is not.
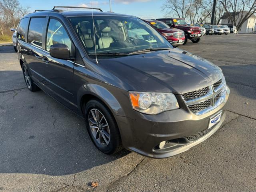
{"type": "Polygon", "coordinates": [[[172,93],[129,92],[129,96],[134,110],[150,115],[179,108],[172,93]]]}

